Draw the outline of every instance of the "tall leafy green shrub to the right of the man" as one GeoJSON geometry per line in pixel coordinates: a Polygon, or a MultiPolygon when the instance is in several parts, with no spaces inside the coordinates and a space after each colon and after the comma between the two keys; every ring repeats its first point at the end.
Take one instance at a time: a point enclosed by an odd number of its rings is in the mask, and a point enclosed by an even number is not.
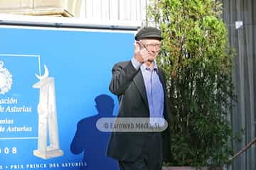
{"type": "Polygon", "coordinates": [[[233,154],[233,52],[215,0],[151,0],[148,23],[164,36],[159,65],[171,101],[176,166],[220,166],[233,154]]]}

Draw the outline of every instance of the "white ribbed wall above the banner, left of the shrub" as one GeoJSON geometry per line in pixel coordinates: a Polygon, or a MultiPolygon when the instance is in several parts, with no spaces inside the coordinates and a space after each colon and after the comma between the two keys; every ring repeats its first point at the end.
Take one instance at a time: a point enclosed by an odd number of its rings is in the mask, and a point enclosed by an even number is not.
{"type": "Polygon", "coordinates": [[[82,0],[80,18],[144,23],[149,0],[82,0]]]}

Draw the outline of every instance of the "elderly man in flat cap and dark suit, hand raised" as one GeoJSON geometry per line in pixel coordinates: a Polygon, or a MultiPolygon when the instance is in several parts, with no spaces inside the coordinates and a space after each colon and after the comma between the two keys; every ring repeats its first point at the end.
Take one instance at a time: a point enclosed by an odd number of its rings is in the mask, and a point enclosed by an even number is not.
{"type": "MultiPolygon", "coordinates": [[[[135,35],[134,57],[114,64],[110,91],[119,98],[117,118],[164,118],[169,122],[165,76],[157,67],[161,31],[145,27],[135,35]]],[[[112,132],[107,155],[121,170],[159,170],[169,159],[169,128],[164,132],[112,132]]]]}

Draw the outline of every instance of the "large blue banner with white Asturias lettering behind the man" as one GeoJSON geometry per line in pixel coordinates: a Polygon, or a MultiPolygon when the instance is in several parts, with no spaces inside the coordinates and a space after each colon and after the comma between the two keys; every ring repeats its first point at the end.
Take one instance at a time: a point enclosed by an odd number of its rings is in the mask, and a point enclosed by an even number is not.
{"type": "Polygon", "coordinates": [[[0,28],[0,35],[0,170],[117,169],[105,154],[110,132],[95,124],[117,114],[111,69],[132,57],[133,33],[0,28]]]}

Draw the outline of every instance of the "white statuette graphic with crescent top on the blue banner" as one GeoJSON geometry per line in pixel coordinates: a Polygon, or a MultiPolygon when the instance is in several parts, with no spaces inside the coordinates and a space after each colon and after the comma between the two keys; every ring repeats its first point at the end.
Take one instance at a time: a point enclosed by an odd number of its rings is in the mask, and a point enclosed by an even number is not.
{"type": "Polygon", "coordinates": [[[50,159],[63,156],[58,140],[57,111],[55,101],[55,84],[53,77],[48,77],[49,72],[44,65],[45,74],[36,77],[40,80],[33,88],[40,89],[38,103],[38,149],[33,151],[36,157],[50,159]],[[50,145],[47,146],[49,137],[50,145]]]}

